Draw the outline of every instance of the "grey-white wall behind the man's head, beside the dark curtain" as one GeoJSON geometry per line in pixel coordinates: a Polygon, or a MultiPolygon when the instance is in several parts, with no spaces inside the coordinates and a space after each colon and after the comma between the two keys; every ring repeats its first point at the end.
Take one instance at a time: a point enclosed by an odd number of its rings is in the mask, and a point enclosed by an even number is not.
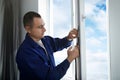
{"type": "Polygon", "coordinates": [[[23,16],[28,11],[38,12],[38,0],[20,0],[20,20],[22,40],[24,39],[25,36],[25,30],[23,27],[23,16]]]}

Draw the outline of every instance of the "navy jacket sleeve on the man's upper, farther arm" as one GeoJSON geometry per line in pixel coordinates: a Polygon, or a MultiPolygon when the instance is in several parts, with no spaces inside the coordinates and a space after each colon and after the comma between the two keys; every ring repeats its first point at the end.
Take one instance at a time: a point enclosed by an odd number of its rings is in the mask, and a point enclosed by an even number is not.
{"type": "Polygon", "coordinates": [[[60,51],[64,48],[67,48],[71,45],[72,41],[67,40],[67,37],[64,38],[52,38],[50,36],[45,37],[52,47],[53,52],[60,51]]]}

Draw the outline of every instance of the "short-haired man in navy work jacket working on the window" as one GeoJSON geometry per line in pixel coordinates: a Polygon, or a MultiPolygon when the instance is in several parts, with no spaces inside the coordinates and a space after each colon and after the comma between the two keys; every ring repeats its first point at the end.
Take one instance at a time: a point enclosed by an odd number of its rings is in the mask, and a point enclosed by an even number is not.
{"type": "Polygon", "coordinates": [[[79,56],[78,47],[72,50],[70,47],[68,57],[57,66],[53,53],[69,47],[71,40],[77,37],[77,30],[71,30],[62,39],[44,36],[45,23],[38,13],[32,11],[24,15],[23,23],[27,33],[16,55],[20,80],[60,80],[70,63],[79,56]]]}

